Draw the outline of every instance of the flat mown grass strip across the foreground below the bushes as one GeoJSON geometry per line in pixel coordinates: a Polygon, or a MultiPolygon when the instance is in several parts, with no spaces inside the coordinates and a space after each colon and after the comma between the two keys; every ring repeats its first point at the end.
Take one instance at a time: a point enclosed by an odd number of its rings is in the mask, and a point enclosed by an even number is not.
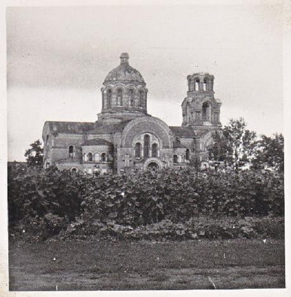
{"type": "Polygon", "coordinates": [[[284,288],[284,241],[9,244],[9,290],[12,291],[214,287],[284,288]]]}

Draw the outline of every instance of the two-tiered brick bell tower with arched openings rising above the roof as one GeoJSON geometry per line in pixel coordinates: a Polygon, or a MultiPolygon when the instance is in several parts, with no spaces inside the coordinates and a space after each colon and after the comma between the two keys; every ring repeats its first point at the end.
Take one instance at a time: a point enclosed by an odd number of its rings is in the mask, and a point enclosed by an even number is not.
{"type": "Polygon", "coordinates": [[[182,126],[198,129],[221,127],[221,102],[214,98],[214,76],[209,73],[194,73],[187,76],[187,81],[187,97],[182,103],[182,126]]]}

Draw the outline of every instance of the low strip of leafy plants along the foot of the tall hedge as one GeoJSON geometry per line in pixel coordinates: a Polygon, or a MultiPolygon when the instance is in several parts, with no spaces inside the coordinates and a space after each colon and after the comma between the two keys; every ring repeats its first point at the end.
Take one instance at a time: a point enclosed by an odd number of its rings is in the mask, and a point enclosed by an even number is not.
{"type": "Polygon", "coordinates": [[[134,239],[134,240],[185,240],[185,239],[234,239],[234,238],[284,238],[283,217],[194,217],[183,223],[165,219],[144,226],[124,226],[115,221],[94,224],[72,224],[59,235],[61,239],[134,239]]]}

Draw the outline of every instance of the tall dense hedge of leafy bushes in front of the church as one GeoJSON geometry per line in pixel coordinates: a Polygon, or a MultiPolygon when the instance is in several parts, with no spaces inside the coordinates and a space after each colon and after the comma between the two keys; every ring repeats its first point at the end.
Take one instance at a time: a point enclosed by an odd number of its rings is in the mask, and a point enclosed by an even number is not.
{"type": "MultiPolygon", "coordinates": [[[[38,239],[61,230],[70,233],[73,222],[74,228],[82,225],[89,233],[101,234],[105,228],[110,235],[117,228],[130,238],[147,237],[147,228],[155,230],[156,224],[166,223],[170,234],[176,234],[171,238],[195,238],[200,229],[191,224],[203,221],[203,217],[215,220],[213,226],[207,229],[205,225],[201,231],[211,238],[215,228],[221,236],[229,232],[222,224],[226,218],[268,216],[270,220],[270,216],[284,216],[284,178],[278,173],[249,170],[214,174],[186,169],[94,176],[54,168],[12,167],[8,170],[8,213],[11,232],[38,239]],[[179,224],[188,229],[179,229],[179,224]],[[129,229],[126,233],[122,228],[129,229]]],[[[249,225],[238,227],[241,235],[247,234],[243,228],[248,230],[249,225]]]]}

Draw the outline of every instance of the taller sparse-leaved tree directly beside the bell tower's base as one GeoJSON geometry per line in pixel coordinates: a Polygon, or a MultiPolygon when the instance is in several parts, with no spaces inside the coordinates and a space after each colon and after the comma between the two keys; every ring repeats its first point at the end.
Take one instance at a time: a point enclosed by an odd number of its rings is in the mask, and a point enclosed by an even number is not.
{"type": "Polygon", "coordinates": [[[224,161],[236,170],[251,164],[257,151],[256,133],[248,130],[243,118],[229,123],[212,134],[209,152],[215,161],[224,161]]]}

